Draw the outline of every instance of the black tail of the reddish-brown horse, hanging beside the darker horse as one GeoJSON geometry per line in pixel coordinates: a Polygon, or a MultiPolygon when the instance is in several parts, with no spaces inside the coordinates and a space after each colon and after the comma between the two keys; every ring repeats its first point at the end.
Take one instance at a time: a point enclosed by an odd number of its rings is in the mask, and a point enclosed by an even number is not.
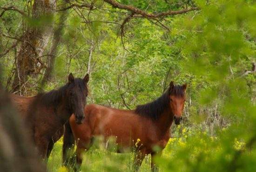
{"type": "Polygon", "coordinates": [[[62,146],[62,163],[65,166],[72,166],[75,163],[74,136],[69,124],[69,120],[65,124],[62,146]]]}

